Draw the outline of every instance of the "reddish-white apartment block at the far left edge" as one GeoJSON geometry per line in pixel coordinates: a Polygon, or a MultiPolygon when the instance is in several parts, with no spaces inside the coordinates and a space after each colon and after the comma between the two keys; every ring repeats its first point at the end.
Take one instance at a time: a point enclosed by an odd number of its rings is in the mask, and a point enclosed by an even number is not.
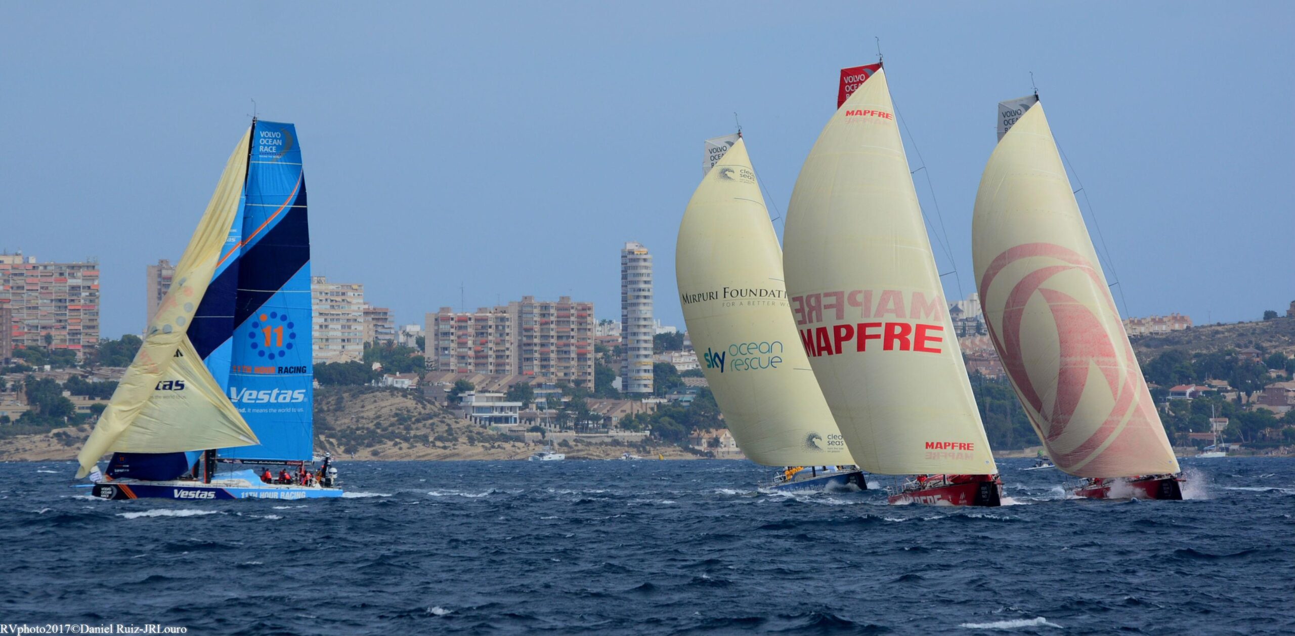
{"type": "Polygon", "coordinates": [[[0,254],[0,307],[8,311],[10,347],[98,346],[98,263],[38,263],[0,254]]]}

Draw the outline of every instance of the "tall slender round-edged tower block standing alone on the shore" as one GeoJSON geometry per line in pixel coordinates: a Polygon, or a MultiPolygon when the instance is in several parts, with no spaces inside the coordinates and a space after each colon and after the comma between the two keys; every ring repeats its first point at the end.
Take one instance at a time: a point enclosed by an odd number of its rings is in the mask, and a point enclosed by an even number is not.
{"type": "Polygon", "coordinates": [[[620,387],[629,394],[650,394],[653,323],[651,254],[638,242],[620,250],[620,339],[624,363],[620,387]]]}

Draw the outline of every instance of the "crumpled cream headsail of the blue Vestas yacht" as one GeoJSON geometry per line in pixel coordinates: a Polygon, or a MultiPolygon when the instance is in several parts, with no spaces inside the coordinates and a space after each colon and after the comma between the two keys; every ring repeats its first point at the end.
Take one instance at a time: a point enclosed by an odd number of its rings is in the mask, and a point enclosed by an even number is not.
{"type": "Polygon", "coordinates": [[[256,443],[186,335],[241,203],[249,142],[250,131],[225,163],[140,351],[76,456],[78,478],[107,452],[167,453],[256,443]]]}

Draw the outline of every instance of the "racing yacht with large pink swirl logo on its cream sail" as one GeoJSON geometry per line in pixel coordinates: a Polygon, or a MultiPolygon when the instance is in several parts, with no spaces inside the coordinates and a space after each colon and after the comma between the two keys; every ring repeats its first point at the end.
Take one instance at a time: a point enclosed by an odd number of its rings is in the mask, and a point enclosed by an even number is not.
{"type": "Polygon", "coordinates": [[[1178,462],[1042,105],[1004,104],[1017,111],[1000,123],[980,180],[973,241],[985,324],[1008,377],[1057,468],[1087,478],[1075,495],[1182,499],[1178,462]]]}

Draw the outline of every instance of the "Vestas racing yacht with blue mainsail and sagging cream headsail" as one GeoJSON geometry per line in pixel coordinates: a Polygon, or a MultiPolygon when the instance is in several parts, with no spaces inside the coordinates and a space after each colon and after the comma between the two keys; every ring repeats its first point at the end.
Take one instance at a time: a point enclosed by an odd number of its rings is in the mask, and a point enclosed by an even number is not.
{"type": "Polygon", "coordinates": [[[310,231],[293,124],[253,120],[175,280],[80,453],[84,474],[113,452],[95,496],[341,496],[330,460],[317,478],[307,469],[310,231]],[[276,481],[247,469],[218,473],[221,462],[284,468],[276,481]]]}

